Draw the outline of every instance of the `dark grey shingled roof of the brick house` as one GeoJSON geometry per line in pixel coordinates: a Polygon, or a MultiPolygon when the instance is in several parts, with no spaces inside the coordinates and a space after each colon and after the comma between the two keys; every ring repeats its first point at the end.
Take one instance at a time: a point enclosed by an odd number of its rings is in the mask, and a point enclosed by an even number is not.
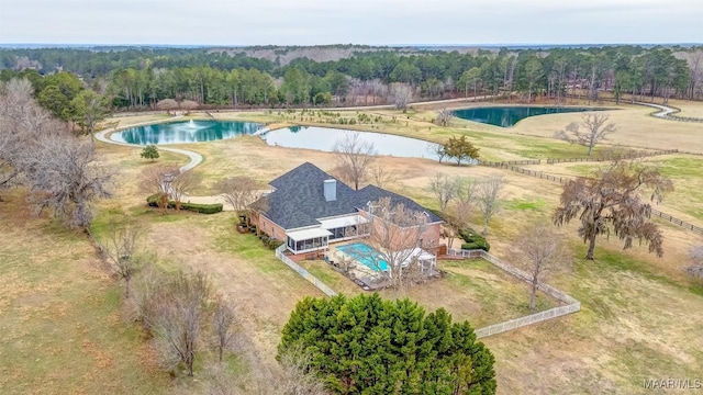
{"type": "Polygon", "coordinates": [[[316,218],[354,214],[357,207],[365,208],[367,202],[384,196],[390,196],[393,204],[403,203],[408,208],[427,212],[429,222],[442,221],[412,200],[378,187],[368,185],[355,191],[310,162],[302,163],[269,184],[275,191],[268,195],[266,216],[283,229],[319,225],[316,218]],[[324,181],[330,179],[336,180],[337,199],[327,202],[324,181]]]}

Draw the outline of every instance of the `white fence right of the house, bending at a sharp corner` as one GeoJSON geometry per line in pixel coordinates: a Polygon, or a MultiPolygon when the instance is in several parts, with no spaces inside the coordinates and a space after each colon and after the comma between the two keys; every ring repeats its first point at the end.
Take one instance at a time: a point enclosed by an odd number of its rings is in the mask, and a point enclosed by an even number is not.
{"type": "MultiPolygon", "coordinates": [[[[518,280],[525,281],[527,283],[532,283],[531,275],[527,272],[515,268],[514,266],[504,262],[496,257],[483,251],[483,250],[454,250],[448,249],[447,255],[454,257],[465,257],[465,258],[483,258],[487,261],[493,263],[494,266],[503,269],[509,272],[511,275],[517,278],[518,280]]],[[[566,293],[555,289],[554,286],[539,283],[537,284],[537,289],[547,295],[566,303],[566,306],[550,308],[548,311],[539,312],[536,314],[531,314],[528,316],[510,319],[503,323],[490,325],[483,328],[476,329],[476,337],[483,338],[491,335],[501,334],[507,330],[516,329],[520,327],[524,327],[527,325],[540,323],[543,320],[560,317],[562,315],[576,313],[581,309],[581,302],[574,300],[573,297],[567,295],[566,293]]]]}

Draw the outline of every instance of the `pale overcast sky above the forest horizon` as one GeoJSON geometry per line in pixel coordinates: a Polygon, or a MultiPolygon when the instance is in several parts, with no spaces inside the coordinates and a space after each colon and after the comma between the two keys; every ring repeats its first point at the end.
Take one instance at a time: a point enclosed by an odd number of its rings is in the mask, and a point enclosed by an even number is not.
{"type": "Polygon", "coordinates": [[[702,43],[703,0],[0,0],[0,43],[702,43]]]}

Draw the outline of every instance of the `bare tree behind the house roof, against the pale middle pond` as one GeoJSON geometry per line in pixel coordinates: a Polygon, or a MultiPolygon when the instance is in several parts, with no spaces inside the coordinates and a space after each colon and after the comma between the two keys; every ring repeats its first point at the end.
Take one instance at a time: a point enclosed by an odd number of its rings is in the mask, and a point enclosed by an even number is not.
{"type": "Polygon", "coordinates": [[[354,189],[359,189],[359,183],[364,182],[368,167],[373,161],[376,148],[370,142],[361,138],[358,132],[347,133],[343,138],[334,144],[342,178],[354,184],[354,189]]]}

